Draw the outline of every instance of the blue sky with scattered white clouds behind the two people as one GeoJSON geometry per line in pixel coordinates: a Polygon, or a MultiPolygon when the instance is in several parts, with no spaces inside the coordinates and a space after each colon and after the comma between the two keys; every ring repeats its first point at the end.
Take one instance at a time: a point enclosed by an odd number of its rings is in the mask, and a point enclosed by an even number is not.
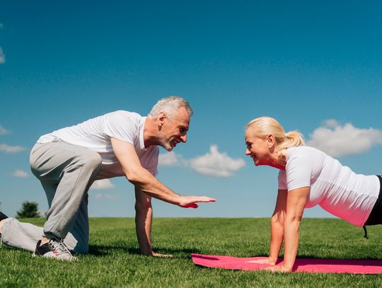
{"type": "MultiPolygon", "coordinates": [[[[380,1],[1,1],[1,209],[47,208],[28,164],[40,135],[113,110],[146,115],[170,95],[195,114],[187,144],[161,149],[158,178],[217,202],[155,200],[156,217],[270,217],[278,171],[253,166],[244,144],[263,115],[357,173],[382,173],[381,12],[380,1]]],[[[134,215],[125,178],[99,188],[91,216],[134,215]]]]}

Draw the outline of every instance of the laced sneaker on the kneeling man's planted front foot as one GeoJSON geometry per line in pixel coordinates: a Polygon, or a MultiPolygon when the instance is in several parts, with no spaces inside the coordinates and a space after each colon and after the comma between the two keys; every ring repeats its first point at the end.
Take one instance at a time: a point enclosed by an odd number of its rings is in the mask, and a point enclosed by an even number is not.
{"type": "Polygon", "coordinates": [[[42,256],[46,258],[54,258],[58,260],[77,260],[76,257],[71,255],[69,249],[65,246],[62,240],[50,239],[48,243],[40,246],[41,240],[37,242],[35,253],[33,256],[42,256]]]}

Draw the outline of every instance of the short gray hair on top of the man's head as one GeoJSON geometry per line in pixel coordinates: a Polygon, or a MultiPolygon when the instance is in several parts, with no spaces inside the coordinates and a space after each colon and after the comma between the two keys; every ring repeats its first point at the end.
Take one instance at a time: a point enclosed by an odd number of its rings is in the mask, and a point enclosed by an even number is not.
{"type": "Polygon", "coordinates": [[[190,103],[188,103],[185,99],[179,97],[179,96],[169,96],[166,98],[162,98],[161,100],[158,100],[156,105],[151,109],[149,115],[147,115],[150,118],[155,118],[158,116],[159,113],[163,112],[168,115],[168,117],[173,117],[176,113],[178,113],[179,108],[185,108],[187,110],[188,115],[190,117],[193,114],[192,108],[190,106],[190,103]]]}

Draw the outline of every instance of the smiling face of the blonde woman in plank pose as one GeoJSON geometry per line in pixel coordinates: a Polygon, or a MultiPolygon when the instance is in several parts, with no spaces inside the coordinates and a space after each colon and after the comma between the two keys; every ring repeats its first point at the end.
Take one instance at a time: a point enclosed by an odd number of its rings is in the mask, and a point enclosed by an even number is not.
{"type": "Polygon", "coordinates": [[[268,137],[257,137],[247,129],[245,132],[245,144],[247,145],[245,155],[253,159],[255,166],[269,165],[271,163],[270,141],[268,137]]]}

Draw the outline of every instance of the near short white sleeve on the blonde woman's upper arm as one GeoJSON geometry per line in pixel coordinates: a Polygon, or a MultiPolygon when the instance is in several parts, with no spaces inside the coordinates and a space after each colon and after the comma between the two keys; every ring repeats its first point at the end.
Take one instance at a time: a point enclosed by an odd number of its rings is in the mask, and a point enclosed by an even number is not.
{"type": "Polygon", "coordinates": [[[311,187],[312,164],[308,159],[299,156],[289,159],[285,167],[285,173],[287,175],[288,191],[311,187]]]}

